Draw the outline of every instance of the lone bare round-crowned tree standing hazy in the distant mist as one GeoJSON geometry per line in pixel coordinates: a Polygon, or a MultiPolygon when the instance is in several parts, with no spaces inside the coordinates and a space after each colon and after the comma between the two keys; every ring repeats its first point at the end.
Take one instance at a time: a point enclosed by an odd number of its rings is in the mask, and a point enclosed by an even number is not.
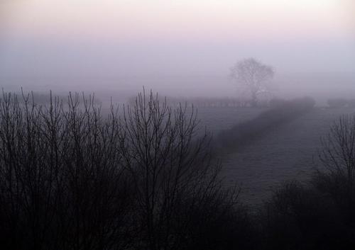
{"type": "Polygon", "coordinates": [[[258,95],[268,91],[267,81],[273,78],[273,68],[254,58],[242,59],[231,67],[231,78],[251,94],[251,106],[256,106],[258,95]]]}

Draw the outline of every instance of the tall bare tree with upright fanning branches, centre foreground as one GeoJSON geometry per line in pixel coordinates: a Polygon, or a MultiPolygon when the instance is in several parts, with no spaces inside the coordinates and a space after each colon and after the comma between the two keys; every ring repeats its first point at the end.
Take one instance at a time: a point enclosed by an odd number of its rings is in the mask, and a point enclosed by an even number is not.
{"type": "Polygon", "coordinates": [[[238,193],[222,188],[209,138],[198,136],[195,109],[170,108],[143,92],[124,108],[121,125],[121,153],[136,188],[137,242],[151,250],[196,244],[196,234],[207,225],[202,223],[220,220],[234,208],[238,193]]]}

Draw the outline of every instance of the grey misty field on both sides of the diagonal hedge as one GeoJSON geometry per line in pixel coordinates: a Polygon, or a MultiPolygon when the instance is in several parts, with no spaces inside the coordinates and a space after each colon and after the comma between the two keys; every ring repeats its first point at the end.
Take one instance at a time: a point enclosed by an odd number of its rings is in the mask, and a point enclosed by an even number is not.
{"type": "MultiPolygon", "coordinates": [[[[236,123],[251,120],[265,109],[199,108],[202,125],[217,135],[236,123]]],[[[242,186],[241,199],[257,205],[271,195],[283,181],[306,181],[317,164],[320,138],[340,115],[351,108],[314,108],[295,120],[275,127],[241,149],[220,155],[226,185],[237,181],[242,186]]]]}

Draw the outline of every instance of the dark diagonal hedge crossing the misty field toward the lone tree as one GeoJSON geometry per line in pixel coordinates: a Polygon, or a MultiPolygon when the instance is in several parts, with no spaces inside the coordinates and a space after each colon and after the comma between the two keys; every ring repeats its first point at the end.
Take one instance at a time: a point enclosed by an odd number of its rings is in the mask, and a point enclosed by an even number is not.
{"type": "Polygon", "coordinates": [[[247,120],[231,127],[229,130],[220,132],[215,140],[217,147],[239,147],[262,136],[271,128],[307,113],[315,106],[315,101],[310,97],[296,98],[290,101],[273,99],[270,101],[270,106],[270,110],[266,110],[253,120],[247,120]]]}

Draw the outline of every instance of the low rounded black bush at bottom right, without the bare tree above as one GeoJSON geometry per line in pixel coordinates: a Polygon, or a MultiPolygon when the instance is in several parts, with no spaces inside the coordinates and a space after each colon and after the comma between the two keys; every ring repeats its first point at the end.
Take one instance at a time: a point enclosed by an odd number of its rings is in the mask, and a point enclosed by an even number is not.
{"type": "Polygon", "coordinates": [[[261,212],[263,249],[351,249],[355,241],[341,216],[312,186],[285,183],[261,212]]]}

